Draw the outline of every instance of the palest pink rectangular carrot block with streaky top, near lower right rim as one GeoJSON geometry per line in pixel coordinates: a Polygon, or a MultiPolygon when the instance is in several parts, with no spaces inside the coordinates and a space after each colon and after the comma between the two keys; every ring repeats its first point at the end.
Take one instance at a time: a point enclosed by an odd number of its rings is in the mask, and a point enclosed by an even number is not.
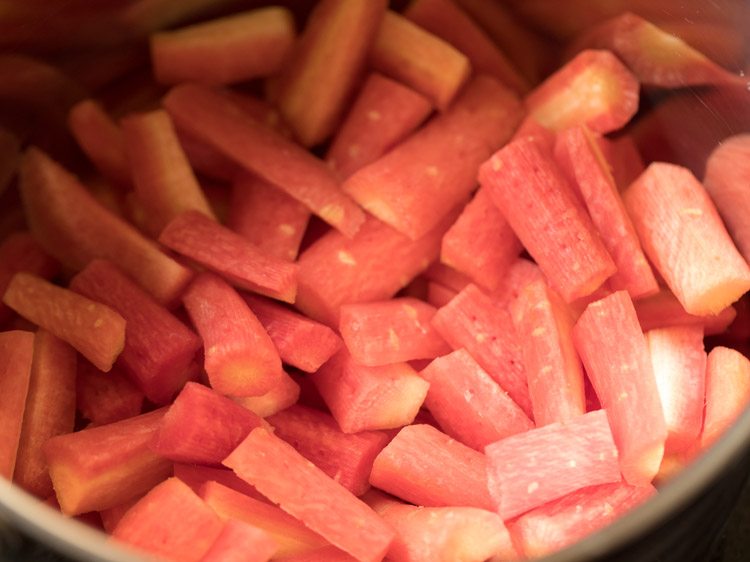
{"type": "Polygon", "coordinates": [[[487,445],[487,484],[512,519],[587,486],[619,482],[617,447],[604,410],[487,445]]]}

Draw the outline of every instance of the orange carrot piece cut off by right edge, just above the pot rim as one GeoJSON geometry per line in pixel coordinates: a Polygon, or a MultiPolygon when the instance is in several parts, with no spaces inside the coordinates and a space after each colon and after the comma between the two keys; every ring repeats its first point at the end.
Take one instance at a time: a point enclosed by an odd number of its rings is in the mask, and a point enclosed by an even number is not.
{"type": "Polygon", "coordinates": [[[728,347],[715,347],[706,364],[706,412],[700,446],[710,447],[750,403],[750,361],[728,347]]]}

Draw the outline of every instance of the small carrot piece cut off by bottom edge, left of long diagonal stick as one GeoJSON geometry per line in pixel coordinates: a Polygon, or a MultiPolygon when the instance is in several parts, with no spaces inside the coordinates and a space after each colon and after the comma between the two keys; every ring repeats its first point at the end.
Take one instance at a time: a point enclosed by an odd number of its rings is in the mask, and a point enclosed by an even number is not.
{"type": "Polygon", "coordinates": [[[201,562],[267,562],[276,550],[276,542],[268,533],[230,519],[201,562]]]}

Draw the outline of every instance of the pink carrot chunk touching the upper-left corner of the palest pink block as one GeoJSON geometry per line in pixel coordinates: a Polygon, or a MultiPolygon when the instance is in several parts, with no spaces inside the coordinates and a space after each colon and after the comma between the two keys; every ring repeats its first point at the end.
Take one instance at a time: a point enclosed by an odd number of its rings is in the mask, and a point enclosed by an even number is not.
{"type": "Polygon", "coordinates": [[[443,431],[469,447],[484,451],[534,427],[465,349],[438,357],[419,374],[430,383],[425,406],[443,431]]]}

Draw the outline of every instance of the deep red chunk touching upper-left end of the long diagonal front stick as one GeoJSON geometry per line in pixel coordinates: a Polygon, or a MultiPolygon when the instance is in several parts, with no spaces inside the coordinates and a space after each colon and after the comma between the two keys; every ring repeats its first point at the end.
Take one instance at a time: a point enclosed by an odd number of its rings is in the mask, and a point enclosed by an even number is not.
{"type": "Polygon", "coordinates": [[[162,418],[151,449],[174,462],[220,465],[260,417],[195,382],[180,391],[162,418]]]}

